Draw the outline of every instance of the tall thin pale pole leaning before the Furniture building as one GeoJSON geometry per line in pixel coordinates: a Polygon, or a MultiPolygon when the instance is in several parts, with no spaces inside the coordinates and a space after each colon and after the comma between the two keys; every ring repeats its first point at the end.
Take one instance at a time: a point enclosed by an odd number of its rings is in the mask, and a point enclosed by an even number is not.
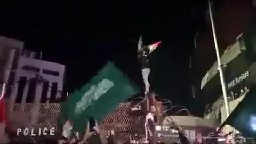
{"type": "Polygon", "coordinates": [[[208,0],[208,4],[209,4],[209,13],[210,13],[210,18],[211,18],[211,25],[212,25],[212,34],[213,34],[213,39],[214,39],[216,56],[217,56],[217,60],[218,60],[218,69],[219,69],[219,73],[220,73],[220,82],[221,82],[221,87],[222,87],[223,99],[224,99],[225,108],[226,108],[226,115],[228,117],[230,110],[229,110],[229,106],[228,106],[227,88],[226,88],[225,78],[224,78],[222,65],[221,65],[221,61],[220,61],[220,52],[219,52],[219,46],[218,46],[217,37],[216,37],[216,33],[215,33],[215,27],[214,27],[214,22],[213,22],[213,17],[212,17],[212,6],[211,6],[210,0],[208,0]]]}

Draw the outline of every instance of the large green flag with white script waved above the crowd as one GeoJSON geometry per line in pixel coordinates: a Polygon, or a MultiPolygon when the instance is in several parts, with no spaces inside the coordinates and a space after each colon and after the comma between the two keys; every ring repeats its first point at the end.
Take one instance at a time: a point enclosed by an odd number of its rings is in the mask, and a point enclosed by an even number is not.
{"type": "Polygon", "coordinates": [[[91,81],[70,95],[68,119],[74,131],[84,131],[89,117],[102,121],[118,103],[140,92],[112,62],[108,62],[91,81]]]}

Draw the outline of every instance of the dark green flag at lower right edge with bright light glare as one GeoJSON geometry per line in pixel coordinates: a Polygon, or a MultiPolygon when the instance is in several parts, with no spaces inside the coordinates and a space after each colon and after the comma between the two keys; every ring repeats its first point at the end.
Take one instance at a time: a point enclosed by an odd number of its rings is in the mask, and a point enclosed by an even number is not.
{"type": "Polygon", "coordinates": [[[240,131],[245,137],[256,136],[256,91],[251,90],[245,95],[244,99],[237,105],[229,115],[223,125],[231,125],[240,131]]]}

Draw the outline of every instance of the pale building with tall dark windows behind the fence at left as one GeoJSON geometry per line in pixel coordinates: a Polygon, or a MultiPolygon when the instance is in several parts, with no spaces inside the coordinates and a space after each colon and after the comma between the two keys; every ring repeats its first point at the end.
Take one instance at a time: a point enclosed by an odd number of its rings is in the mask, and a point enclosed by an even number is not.
{"type": "Polygon", "coordinates": [[[63,91],[65,66],[59,63],[35,59],[35,53],[25,51],[18,62],[18,70],[15,73],[15,83],[24,88],[23,94],[11,95],[15,103],[45,103],[46,100],[53,102],[61,97],[63,91]],[[31,94],[29,89],[35,87],[35,81],[41,83],[42,94],[31,94]],[[22,97],[22,98],[21,98],[22,97]],[[45,98],[44,98],[45,97],[45,98]]]}

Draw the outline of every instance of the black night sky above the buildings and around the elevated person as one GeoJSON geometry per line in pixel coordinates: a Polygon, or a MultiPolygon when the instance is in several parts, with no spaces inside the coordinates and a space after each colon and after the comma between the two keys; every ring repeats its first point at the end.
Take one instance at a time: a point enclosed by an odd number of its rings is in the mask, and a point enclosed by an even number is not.
{"type": "Polygon", "coordinates": [[[44,60],[66,65],[68,92],[108,60],[143,87],[139,36],[145,44],[162,40],[150,56],[151,85],[161,97],[189,107],[189,56],[204,9],[205,2],[199,1],[1,5],[0,35],[25,41],[25,48],[42,51],[44,60]]]}

